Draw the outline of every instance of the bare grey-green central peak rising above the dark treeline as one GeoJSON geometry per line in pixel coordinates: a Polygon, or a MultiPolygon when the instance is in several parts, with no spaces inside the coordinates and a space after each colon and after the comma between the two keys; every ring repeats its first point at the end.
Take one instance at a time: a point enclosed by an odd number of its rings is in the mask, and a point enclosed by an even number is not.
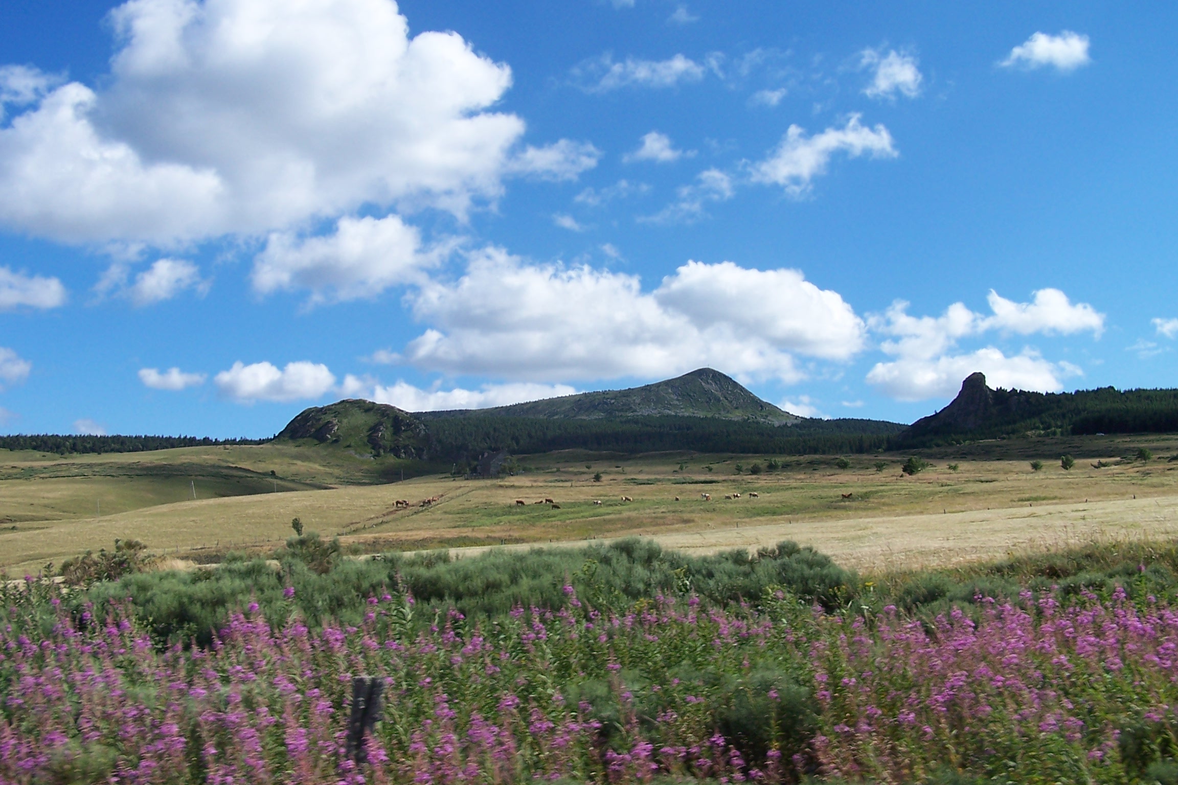
{"type": "Polygon", "coordinates": [[[425,420],[448,417],[528,417],[596,420],[631,417],[707,417],[769,425],[792,425],[802,418],[768,404],[730,377],[700,368],[681,377],[628,390],[580,393],[483,410],[422,412],[425,420]]]}

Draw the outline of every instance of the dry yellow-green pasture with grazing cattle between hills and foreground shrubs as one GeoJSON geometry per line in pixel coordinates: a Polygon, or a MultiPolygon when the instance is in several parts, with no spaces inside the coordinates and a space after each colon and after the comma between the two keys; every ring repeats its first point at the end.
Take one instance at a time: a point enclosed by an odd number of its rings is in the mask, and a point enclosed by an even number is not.
{"type": "Polygon", "coordinates": [[[926,452],[933,466],[914,477],[900,472],[899,455],[852,455],[847,468],[836,457],[779,457],[780,470],[753,475],[768,457],[561,452],[522,457],[524,471],[502,480],[389,485],[348,485],[352,472],[366,481],[359,459],[323,463],[315,450],[273,445],[0,452],[0,566],[21,574],[115,538],[214,560],[277,547],[296,517],[356,551],[641,534],[700,551],[793,539],[860,568],[920,566],[1101,537],[1178,537],[1178,461],[1167,460],[1176,452],[1178,437],[981,443],[926,452]],[[1127,460],[1143,446],[1157,457],[1127,460]],[[1070,472],[1063,452],[1077,458],[1070,472]],[[734,493],[741,498],[724,498],[734,493]],[[410,507],[398,510],[399,499],[410,507]]]}

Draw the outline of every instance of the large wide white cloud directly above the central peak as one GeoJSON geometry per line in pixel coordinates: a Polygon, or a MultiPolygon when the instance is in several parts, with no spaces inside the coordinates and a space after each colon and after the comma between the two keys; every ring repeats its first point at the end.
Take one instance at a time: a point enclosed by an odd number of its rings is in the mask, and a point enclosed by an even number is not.
{"type": "Polygon", "coordinates": [[[796,381],[794,354],[846,359],[865,332],[836,293],[798,271],[688,262],[646,293],[635,275],[528,265],[495,248],[472,254],[457,281],[424,285],[411,306],[430,327],[402,361],[540,382],[702,365],[796,381]]]}

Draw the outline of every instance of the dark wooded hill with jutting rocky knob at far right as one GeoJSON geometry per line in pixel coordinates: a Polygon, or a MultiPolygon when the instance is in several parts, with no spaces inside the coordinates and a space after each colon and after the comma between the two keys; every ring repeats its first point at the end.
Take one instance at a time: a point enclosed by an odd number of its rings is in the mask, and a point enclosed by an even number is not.
{"type": "Polygon", "coordinates": [[[1178,390],[991,390],[986,377],[974,373],[961,382],[961,392],[948,406],[913,423],[892,446],[902,450],[1005,437],[1176,431],[1178,390]]]}

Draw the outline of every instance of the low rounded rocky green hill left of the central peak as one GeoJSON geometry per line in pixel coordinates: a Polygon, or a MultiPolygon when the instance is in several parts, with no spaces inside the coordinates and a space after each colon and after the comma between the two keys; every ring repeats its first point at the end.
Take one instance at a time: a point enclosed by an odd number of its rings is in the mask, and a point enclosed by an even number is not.
{"type": "Polygon", "coordinates": [[[429,458],[429,435],[419,419],[360,399],[303,410],[274,441],[331,445],[364,458],[429,458]]]}

